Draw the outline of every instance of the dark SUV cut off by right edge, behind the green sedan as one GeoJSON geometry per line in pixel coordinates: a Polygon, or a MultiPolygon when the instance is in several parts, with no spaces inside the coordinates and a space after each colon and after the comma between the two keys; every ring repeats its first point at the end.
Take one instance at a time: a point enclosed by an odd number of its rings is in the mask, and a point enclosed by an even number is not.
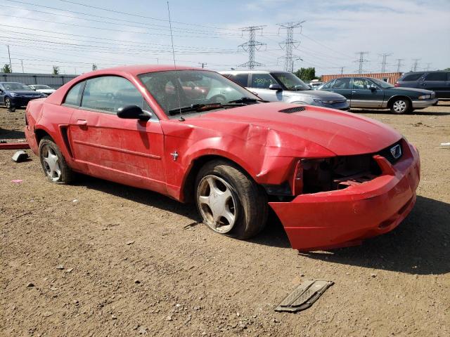
{"type": "Polygon", "coordinates": [[[450,98],[450,72],[406,72],[395,86],[434,91],[437,98],[450,98]]]}

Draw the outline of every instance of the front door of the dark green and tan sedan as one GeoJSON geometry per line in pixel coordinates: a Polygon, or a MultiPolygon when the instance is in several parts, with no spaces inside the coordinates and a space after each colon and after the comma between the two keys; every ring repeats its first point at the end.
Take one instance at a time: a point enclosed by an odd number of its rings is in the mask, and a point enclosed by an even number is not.
{"type": "Polygon", "coordinates": [[[385,94],[383,89],[364,77],[352,81],[351,107],[381,107],[385,94]]]}

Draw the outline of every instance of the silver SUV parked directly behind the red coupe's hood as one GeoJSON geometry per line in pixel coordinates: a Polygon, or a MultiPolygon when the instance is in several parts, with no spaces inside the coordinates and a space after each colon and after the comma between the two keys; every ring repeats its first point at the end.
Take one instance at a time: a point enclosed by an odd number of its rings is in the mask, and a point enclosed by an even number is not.
{"type": "Polygon", "coordinates": [[[338,110],[349,109],[349,103],[342,95],[326,91],[313,91],[290,72],[233,70],[219,73],[269,102],[317,105],[338,110]]]}

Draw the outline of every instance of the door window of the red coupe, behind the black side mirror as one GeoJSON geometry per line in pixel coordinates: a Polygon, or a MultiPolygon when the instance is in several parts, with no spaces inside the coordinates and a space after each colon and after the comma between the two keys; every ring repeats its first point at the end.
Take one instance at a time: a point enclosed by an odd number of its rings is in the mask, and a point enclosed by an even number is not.
{"type": "Polygon", "coordinates": [[[137,105],[143,109],[143,97],[130,81],[123,77],[103,76],[88,79],[82,107],[117,112],[120,107],[137,105]]]}

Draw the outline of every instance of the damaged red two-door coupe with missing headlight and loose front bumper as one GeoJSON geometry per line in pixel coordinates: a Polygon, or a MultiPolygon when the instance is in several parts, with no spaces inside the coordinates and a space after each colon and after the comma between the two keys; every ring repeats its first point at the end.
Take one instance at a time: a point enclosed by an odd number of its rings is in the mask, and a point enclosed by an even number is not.
{"type": "Polygon", "coordinates": [[[264,103],[207,70],[90,72],[32,100],[26,119],[53,183],[80,172],[195,201],[206,225],[239,239],[262,230],[270,207],[294,249],[358,244],[399,225],[416,201],[418,152],[397,131],[348,112],[264,103]],[[186,93],[192,87],[207,94],[186,93]]]}

